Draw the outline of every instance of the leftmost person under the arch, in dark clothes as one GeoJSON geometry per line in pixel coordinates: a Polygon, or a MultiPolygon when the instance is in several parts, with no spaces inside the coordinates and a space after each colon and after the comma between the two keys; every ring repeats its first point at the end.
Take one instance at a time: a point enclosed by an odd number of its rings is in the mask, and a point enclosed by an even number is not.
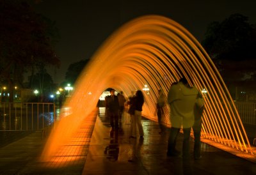
{"type": "Polygon", "coordinates": [[[110,90],[109,96],[106,96],[106,110],[108,117],[110,118],[110,125],[113,129],[118,129],[118,111],[119,102],[115,95],[115,89],[110,90]]]}

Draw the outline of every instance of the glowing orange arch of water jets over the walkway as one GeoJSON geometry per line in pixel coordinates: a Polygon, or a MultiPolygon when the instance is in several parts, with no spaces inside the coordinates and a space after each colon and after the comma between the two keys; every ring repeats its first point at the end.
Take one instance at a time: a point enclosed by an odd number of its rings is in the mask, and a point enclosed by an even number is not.
{"type": "MultiPolygon", "coordinates": [[[[79,122],[90,115],[105,89],[111,87],[129,96],[131,91],[142,90],[147,85],[149,91],[144,91],[142,113],[157,121],[158,90],[163,89],[167,95],[172,83],[181,77],[186,77],[198,90],[207,91],[204,94],[202,137],[253,156],[243,123],[211,58],[189,31],[158,15],[128,22],[95,53],[79,76],[72,98],[65,102],[72,114],[56,125],[57,132],[51,133],[44,155],[54,153],[58,145],[65,142],[61,138],[68,138],[79,122]]],[[[169,114],[170,108],[166,105],[164,121],[167,126],[172,125],[169,114]]]]}

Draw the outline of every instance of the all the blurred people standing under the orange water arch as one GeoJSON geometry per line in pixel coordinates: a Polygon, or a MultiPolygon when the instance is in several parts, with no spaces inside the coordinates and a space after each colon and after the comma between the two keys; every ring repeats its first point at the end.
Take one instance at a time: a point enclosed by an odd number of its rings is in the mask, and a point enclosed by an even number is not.
{"type": "MultiPolygon", "coordinates": [[[[144,132],[141,124],[141,112],[144,104],[144,97],[142,91],[136,91],[136,95],[132,95],[128,100],[124,95],[118,93],[115,95],[115,90],[111,89],[111,95],[106,97],[106,110],[110,117],[110,124],[112,128],[118,128],[118,119],[122,118],[124,112],[124,104],[127,102],[129,105],[128,113],[131,116],[131,138],[136,138],[137,128],[140,138],[143,138],[144,132]]],[[[170,129],[170,136],[168,139],[167,156],[179,156],[180,151],[176,149],[176,141],[180,130],[184,134],[182,144],[182,158],[190,158],[190,145],[189,138],[191,129],[195,139],[194,145],[194,158],[201,158],[200,153],[200,135],[202,128],[202,113],[204,110],[204,100],[202,95],[195,88],[189,86],[187,79],[182,78],[179,82],[172,84],[168,91],[167,99],[162,90],[159,90],[157,100],[157,118],[160,127],[159,133],[165,133],[166,128],[162,125],[162,116],[164,114],[164,105],[170,105],[170,121],[172,127],[170,129]]]]}

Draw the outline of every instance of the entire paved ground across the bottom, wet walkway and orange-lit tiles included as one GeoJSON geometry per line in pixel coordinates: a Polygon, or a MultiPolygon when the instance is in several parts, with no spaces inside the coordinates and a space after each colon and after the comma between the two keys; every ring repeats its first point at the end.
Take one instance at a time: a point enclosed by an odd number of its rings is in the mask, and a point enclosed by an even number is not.
{"type": "Polygon", "coordinates": [[[255,163],[204,143],[200,160],[168,157],[169,131],[160,135],[156,122],[143,119],[144,139],[130,139],[130,127],[125,114],[123,132],[111,132],[100,109],[77,131],[79,142],[65,144],[49,162],[38,160],[46,138],[31,133],[0,148],[0,174],[256,174],[255,163]]]}

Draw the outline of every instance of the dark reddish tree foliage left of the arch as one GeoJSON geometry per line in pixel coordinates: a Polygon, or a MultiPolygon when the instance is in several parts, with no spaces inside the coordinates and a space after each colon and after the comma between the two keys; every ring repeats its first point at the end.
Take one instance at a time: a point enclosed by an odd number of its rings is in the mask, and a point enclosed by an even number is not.
{"type": "MultiPolygon", "coordinates": [[[[21,0],[0,1],[0,84],[22,86],[26,70],[37,65],[59,66],[52,38],[56,27],[21,0]]],[[[33,72],[33,71],[32,71],[33,72]]]]}

